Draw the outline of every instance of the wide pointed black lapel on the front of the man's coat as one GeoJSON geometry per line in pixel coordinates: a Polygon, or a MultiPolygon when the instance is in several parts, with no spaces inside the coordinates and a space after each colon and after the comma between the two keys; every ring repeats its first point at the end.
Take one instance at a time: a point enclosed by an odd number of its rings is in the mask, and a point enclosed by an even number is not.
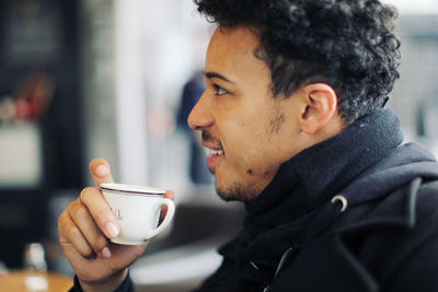
{"type": "MultiPolygon", "coordinates": [[[[349,215],[351,222],[346,223],[345,220],[344,222],[341,220],[341,226],[336,224],[337,226],[314,236],[293,258],[291,265],[274,281],[272,291],[284,291],[284,288],[290,287],[290,282],[293,282],[297,288],[306,287],[307,291],[327,289],[355,292],[379,291],[379,280],[368,271],[342,238],[347,238],[348,235],[360,237],[360,233],[379,227],[411,227],[415,224],[415,208],[412,207],[415,206],[420,183],[422,178],[412,180],[407,187],[387,196],[367,215],[362,217],[357,210],[351,211],[355,213],[353,217],[351,213],[349,215]],[[355,217],[362,218],[357,220],[355,217]]],[[[321,210],[324,212],[330,209],[335,210],[336,208],[326,205],[321,210]]],[[[321,220],[325,221],[324,218],[316,215],[315,221],[321,220]]],[[[315,223],[320,226],[325,222],[315,223]]]]}

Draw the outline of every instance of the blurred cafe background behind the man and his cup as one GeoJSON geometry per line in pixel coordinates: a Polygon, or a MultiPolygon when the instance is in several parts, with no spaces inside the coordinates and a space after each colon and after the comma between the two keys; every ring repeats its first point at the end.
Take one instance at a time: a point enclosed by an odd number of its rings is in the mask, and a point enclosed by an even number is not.
{"type": "MultiPolygon", "coordinates": [[[[405,141],[438,155],[438,2],[385,2],[402,40],[389,106],[405,141]]],[[[57,218],[92,185],[93,157],[117,183],[175,192],[173,225],[131,268],[139,291],[188,290],[217,268],[242,206],[217,198],[185,122],[212,30],[192,0],[0,0],[0,283],[31,268],[71,279],[57,218]]]]}

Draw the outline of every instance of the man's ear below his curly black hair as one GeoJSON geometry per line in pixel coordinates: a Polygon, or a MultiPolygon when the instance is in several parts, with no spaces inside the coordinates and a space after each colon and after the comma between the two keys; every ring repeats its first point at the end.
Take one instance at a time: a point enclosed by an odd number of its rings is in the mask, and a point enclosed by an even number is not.
{"type": "Polygon", "coordinates": [[[303,110],[300,116],[301,130],[312,135],[322,129],[337,113],[337,95],[325,83],[313,83],[303,87],[303,110]]]}

